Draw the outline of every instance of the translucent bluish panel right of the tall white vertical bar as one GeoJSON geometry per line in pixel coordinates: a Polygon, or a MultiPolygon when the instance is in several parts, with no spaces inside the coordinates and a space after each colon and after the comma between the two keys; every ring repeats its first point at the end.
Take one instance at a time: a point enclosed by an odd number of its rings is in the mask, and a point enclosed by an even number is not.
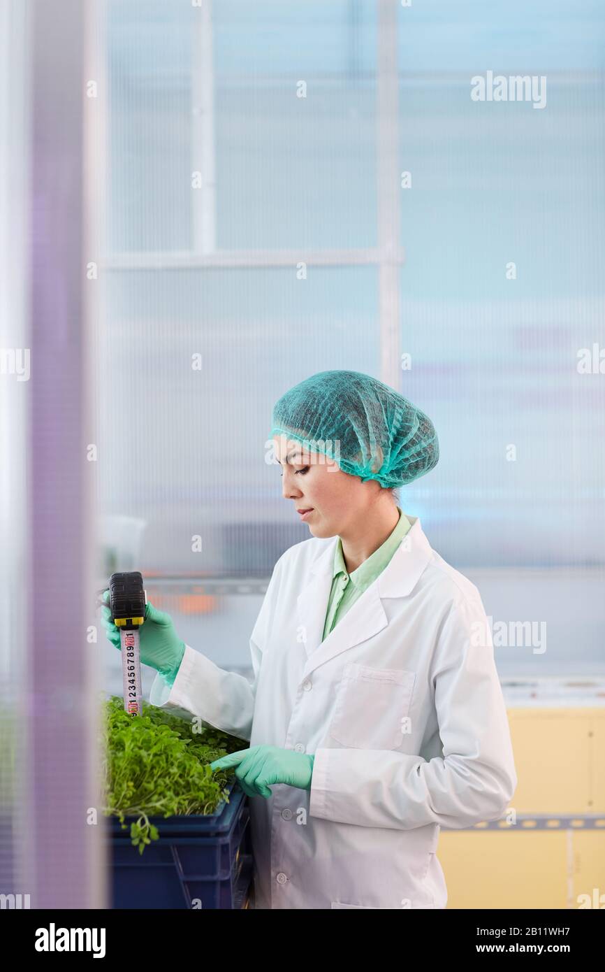
{"type": "Polygon", "coordinates": [[[441,447],[407,496],[458,565],[603,563],[604,14],[399,18],[402,391],[441,447]]]}

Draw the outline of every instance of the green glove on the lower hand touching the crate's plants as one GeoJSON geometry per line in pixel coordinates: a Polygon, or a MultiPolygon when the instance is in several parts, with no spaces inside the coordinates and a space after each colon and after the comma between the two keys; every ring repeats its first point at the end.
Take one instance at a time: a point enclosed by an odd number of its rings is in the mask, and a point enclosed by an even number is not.
{"type": "Polygon", "coordinates": [[[315,756],[279,746],[252,746],[215,759],[211,770],[235,766],[235,775],[248,796],[271,797],[271,783],[287,783],[299,789],[311,789],[315,756]]]}

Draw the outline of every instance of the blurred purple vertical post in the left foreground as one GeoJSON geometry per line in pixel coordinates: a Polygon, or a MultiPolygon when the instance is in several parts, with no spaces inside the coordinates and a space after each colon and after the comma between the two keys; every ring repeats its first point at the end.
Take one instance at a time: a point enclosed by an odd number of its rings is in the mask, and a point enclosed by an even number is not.
{"type": "MultiPolygon", "coordinates": [[[[30,0],[31,412],[24,865],[32,908],[105,904],[98,806],[95,482],[86,226],[89,0],[30,0]],[[92,448],[91,448],[92,447],[92,448]],[[93,457],[93,458],[91,458],[93,457]],[[95,822],[95,820],[97,822],[95,822]]],[[[90,99],[92,100],[92,99],[90,99]]]]}

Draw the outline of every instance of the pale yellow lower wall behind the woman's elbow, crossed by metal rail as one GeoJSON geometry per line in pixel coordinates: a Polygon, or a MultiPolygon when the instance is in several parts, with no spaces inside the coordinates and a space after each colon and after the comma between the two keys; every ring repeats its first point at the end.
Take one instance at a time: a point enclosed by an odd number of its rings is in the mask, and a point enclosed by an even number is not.
{"type": "Polygon", "coordinates": [[[448,908],[605,908],[605,709],[509,709],[508,716],[519,778],[511,809],[519,819],[502,832],[442,830],[448,908]],[[522,819],[532,814],[553,818],[542,829],[522,819]],[[603,819],[594,827],[582,819],[595,814],[603,819]],[[561,827],[557,815],[578,818],[561,827]]]}

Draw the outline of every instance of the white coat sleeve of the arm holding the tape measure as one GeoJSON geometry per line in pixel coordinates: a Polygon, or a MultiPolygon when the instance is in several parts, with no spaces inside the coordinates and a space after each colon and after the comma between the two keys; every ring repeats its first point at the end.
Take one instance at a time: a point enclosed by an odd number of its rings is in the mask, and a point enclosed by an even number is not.
{"type": "Polygon", "coordinates": [[[252,684],[248,678],[237,672],[218,668],[210,658],[186,644],[173,685],[170,686],[159,673],[154,678],[150,692],[152,706],[187,720],[197,716],[203,725],[220,729],[239,739],[250,740],[256,684],[281,569],[282,557],[273,569],[252,630],[252,684]]]}

